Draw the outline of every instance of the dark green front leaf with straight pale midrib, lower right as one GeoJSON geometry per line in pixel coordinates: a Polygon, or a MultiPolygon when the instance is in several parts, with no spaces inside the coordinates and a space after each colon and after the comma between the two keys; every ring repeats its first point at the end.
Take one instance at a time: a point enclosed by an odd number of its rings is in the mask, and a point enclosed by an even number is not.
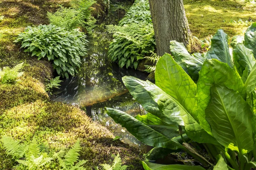
{"type": "Polygon", "coordinates": [[[223,85],[212,85],[211,101],[205,110],[212,135],[224,147],[253,150],[252,113],[239,93],[223,85]]]}

